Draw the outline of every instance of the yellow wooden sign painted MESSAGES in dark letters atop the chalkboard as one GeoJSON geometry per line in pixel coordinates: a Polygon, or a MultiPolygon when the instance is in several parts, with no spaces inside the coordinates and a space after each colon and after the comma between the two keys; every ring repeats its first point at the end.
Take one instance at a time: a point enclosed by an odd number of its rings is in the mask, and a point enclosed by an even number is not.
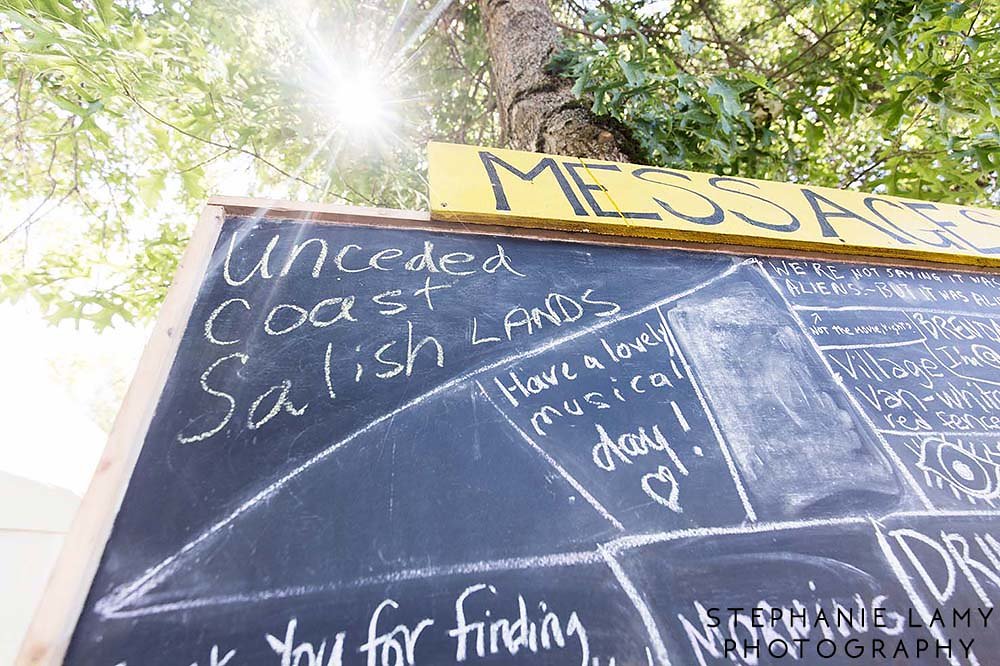
{"type": "Polygon", "coordinates": [[[1000,266],[1000,211],[431,143],[437,219],[1000,266]]]}

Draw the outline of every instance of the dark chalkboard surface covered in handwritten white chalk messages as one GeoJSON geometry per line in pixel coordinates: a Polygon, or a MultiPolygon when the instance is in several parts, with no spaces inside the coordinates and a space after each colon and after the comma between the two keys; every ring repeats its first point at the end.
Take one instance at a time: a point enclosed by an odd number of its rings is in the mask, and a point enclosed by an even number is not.
{"type": "Polygon", "coordinates": [[[65,663],[995,663],[1000,277],[429,227],[218,225],[65,663]]]}

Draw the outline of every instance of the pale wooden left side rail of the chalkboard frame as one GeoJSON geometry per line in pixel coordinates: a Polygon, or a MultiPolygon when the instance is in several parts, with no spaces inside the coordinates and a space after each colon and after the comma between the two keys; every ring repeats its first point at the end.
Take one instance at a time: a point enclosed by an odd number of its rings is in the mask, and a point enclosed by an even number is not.
{"type": "Polygon", "coordinates": [[[208,205],[202,211],[108,435],[100,462],[21,643],[15,666],[55,666],[65,657],[223,219],[221,206],[208,205]]]}

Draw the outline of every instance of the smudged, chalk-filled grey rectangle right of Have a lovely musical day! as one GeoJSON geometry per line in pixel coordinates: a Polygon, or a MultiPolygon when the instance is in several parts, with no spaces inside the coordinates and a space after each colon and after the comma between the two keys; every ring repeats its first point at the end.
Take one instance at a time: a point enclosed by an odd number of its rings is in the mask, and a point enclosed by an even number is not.
{"type": "Polygon", "coordinates": [[[759,277],[737,273],[668,319],[762,518],[896,502],[876,435],[759,277]]]}

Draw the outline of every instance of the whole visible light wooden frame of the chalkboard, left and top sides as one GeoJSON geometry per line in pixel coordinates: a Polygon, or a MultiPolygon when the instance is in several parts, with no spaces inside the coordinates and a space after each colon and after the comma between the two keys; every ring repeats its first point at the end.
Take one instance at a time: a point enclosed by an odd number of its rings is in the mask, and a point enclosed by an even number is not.
{"type": "MultiPolygon", "coordinates": [[[[22,643],[16,663],[23,665],[61,663],[78,616],[100,563],[116,515],[129,485],[133,468],[168,372],[187,327],[199,286],[230,215],[268,219],[305,219],[318,224],[419,229],[473,235],[503,235],[536,240],[560,240],[598,245],[686,249],[699,252],[751,254],[799,260],[822,259],[890,266],[917,266],[954,270],[954,264],[918,260],[862,257],[847,254],[767,250],[740,245],[679,242],[626,236],[563,232],[503,225],[464,225],[438,221],[424,212],[360,208],[326,204],[295,203],[236,197],[214,197],[208,201],[200,222],[178,267],[160,316],[142,355],[107,446],[83,498],[73,526],[49,579],[45,593],[22,643]]],[[[973,265],[968,272],[990,272],[973,265]]]]}

